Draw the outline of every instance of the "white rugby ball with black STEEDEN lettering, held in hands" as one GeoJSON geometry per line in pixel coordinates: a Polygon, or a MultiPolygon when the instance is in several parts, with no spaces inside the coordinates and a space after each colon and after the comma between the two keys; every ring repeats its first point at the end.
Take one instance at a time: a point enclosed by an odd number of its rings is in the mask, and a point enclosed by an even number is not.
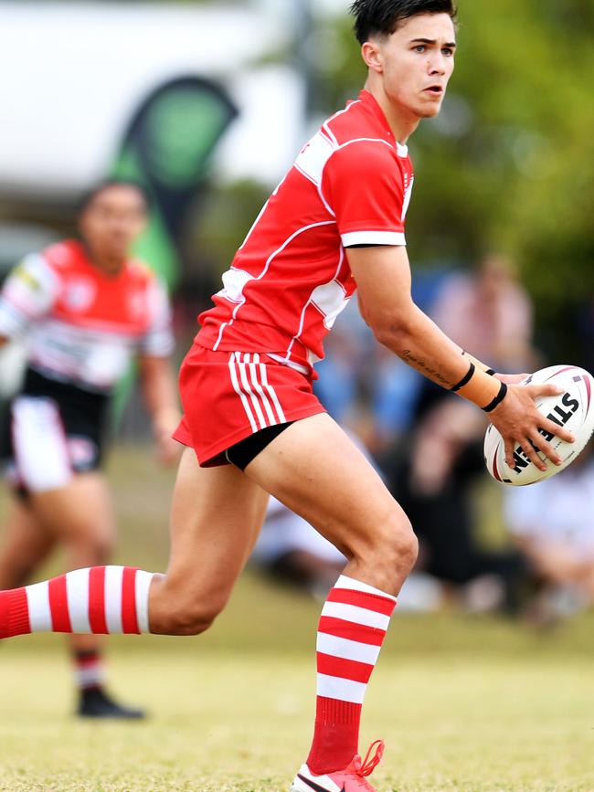
{"type": "Polygon", "coordinates": [[[567,468],[579,452],[588,443],[594,429],[594,378],[585,369],[577,365],[549,365],[526,377],[521,385],[543,385],[551,383],[563,388],[559,396],[540,396],[536,399],[536,407],[540,412],[567,428],[574,438],[574,443],[550,437],[541,431],[549,440],[553,449],[561,457],[560,465],[538,456],[546,463],[546,470],[538,470],[536,465],[525,456],[524,450],[517,446],[514,449],[515,467],[510,468],[505,461],[504,440],[493,424],[489,425],[484,435],[484,462],[493,479],[504,484],[524,486],[534,484],[554,476],[555,473],[567,468]]]}

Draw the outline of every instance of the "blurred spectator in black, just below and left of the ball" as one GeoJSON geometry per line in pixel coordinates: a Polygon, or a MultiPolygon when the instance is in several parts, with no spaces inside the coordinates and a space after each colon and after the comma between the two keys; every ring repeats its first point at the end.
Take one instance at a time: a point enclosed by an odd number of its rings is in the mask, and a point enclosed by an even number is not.
{"type": "Polygon", "coordinates": [[[393,492],[419,537],[417,568],[454,586],[472,611],[514,613],[525,581],[522,554],[484,550],[477,541],[472,491],[483,465],[484,417],[451,396],[412,433],[393,492]]]}

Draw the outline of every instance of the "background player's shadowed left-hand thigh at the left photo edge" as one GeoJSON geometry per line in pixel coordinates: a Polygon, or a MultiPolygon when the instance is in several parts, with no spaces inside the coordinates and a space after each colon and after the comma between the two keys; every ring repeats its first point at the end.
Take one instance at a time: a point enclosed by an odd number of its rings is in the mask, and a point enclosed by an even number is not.
{"type": "Polygon", "coordinates": [[[13,497],[5,517],[0,546],[0,589],[23,586],[55,544],[27,502],[13,497]]]}

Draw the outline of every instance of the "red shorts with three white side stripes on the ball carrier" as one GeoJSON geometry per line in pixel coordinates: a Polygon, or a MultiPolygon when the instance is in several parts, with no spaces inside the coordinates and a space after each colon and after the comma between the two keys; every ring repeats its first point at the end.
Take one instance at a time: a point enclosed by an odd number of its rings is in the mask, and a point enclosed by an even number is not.
{"type": "Polygon", "coordinates": [[[182,364],[184,417],[174,438],[203,468],[228,464],[224,452],[260,429],[324,413],[312,379],[267,354],[213,352],[195,343],[182,364]]]}

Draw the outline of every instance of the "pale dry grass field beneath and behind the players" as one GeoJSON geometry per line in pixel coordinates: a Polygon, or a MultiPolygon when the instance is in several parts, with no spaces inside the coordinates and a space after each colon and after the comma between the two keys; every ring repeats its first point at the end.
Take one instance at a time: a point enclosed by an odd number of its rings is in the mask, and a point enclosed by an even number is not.
{"type": "MultiPolygon", "coordinates": [[[[162,568],[170,477],[135,454],[111,470],[119,560],[162,568]]],[[[112,687],[147,706],[146,723],[78,722],[62,637],[6,641],[0,789],[287,790],[311,735],[318,613],[247,575],[203,637],[111,639],[112,687]]],[[[397,613],[366,701],[362,748],[387,741],[375,786],[592,792],[593,656],[590,616],[536,634],[498,618],[397,613]]]]}

